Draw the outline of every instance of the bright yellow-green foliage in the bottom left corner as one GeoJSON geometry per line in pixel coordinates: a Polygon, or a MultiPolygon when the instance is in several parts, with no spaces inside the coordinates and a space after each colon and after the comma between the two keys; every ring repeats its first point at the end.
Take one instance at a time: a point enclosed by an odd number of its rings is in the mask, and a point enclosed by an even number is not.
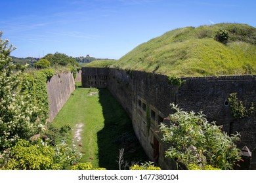
{"type": "Polygon", "coordinates": [[[64,143],[53,147],[40,140],[32,143],[20,139],[2,157],[1,169],[55,170],[77,163],[81,154],[64,143]]]}

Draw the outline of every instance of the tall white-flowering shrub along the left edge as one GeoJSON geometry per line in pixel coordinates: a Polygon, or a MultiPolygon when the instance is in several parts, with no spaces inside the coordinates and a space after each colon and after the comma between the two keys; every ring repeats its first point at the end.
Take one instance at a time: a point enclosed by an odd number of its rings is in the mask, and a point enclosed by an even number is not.
{"type": "Polygon", "coordinates": [[[22,92],[26,83],[26,66],[16,71],[10,54],[12,45],[0,33],[0,153],[18,139],[29,139],[45,126],[39,118],[41,109],[32,102],[30,92],[22,92]]]}

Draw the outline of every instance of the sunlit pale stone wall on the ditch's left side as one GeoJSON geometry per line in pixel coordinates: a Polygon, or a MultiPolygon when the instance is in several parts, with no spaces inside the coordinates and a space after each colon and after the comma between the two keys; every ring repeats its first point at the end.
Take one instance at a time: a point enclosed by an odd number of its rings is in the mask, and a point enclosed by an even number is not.
{"type": "Polygon", "coordinates": [[[71,93],[75,90],[75,81],[72,73],[54,75],[47,82],[49,98],[49,121],[52,122],[63,105],[68,101],[71,93]]]}

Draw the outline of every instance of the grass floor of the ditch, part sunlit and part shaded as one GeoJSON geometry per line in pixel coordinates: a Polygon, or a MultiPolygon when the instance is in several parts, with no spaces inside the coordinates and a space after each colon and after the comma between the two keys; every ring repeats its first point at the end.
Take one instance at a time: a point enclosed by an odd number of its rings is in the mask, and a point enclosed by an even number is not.
{"type": "Polygon", "coordinates": [[[129,116],[106,89],[77,88],[54,118],[53,125],[64,124],[72,127],[73,135],[75,125],[84,124],[82,162],[91,161],[94,167],[118,169],[117,156],[123,147],[124,158],[129,163],[149,160],[136,141],[129,116]],[[129,152],[131,149],[136,151],[129,152]]]}

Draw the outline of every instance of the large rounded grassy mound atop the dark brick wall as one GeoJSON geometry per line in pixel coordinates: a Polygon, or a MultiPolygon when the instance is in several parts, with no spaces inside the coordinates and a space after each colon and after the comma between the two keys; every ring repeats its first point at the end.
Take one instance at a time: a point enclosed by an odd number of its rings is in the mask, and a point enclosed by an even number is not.
{"type": "Polygon", "coordinates": [[[256,28],[215,24],[175,29],[108,67],[178,76],[256,75],[256,28]],[[228,31],[227,44],[215,41],[219,29],[228,31]]]}

